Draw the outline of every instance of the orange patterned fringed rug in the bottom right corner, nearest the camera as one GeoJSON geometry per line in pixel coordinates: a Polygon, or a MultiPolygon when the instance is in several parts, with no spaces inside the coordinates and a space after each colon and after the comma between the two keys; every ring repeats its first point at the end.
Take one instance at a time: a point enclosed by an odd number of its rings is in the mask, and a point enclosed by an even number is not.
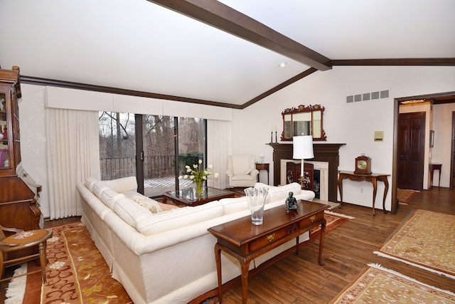
{"type": "Polygon", "coordinates": [[[370,264],[331,304],[455,303],[455,294],[370,264]]]}

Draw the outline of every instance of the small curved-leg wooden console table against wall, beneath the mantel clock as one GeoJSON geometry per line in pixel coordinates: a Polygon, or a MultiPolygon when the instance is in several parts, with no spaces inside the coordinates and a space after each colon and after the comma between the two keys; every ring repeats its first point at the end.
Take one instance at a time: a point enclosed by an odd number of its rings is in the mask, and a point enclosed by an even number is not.
{"type": "Polygon", "coordinates": [[[340,191],[340,206],[343,205],[343,179],[350,179],[354,182],[370,182],[373,184],[373,216],[375,214],[375,201],[376,201],[376,192],[378,190],[378,181],[384,183],[384,197],[382,198],[382,210],[384,213],[387,214],[385,210],[385,196],[387,195],[387,191],[389,191],[389,182],[387,181],[387,177],[390,174],[380,174],[380,173],[372,173],[372,174],[355,174],[352,171],[340,171],[338,172],[338,190],[340,191]]]}

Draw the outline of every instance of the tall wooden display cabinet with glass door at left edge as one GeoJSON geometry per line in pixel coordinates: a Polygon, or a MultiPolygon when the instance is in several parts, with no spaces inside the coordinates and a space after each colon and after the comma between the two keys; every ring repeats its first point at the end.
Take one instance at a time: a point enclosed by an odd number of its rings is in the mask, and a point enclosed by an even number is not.
{"type": "Polygon", "coordinates": [[[19,68],[0,69],[0,224],[39,229],[41,211],[36,194],[18,177],[21,163],[18,98],[21,98],[19,68]]]}

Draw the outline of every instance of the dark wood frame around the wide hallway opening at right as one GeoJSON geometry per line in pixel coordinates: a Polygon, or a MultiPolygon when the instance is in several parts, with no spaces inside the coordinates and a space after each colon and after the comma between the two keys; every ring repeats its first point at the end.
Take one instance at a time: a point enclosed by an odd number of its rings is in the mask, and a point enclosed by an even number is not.
{"type": "MultiPolygon", "coordinates": [[[[397,157],[398,157],[398,115],[400,114],[400,103],[405,100],[432,99],[455,95],[455,91],[445,93],[434,93],[426,95],[416,95],[408,97],[394,98],[393,100],[393,147],[392,147],[392,201],[390,212],[396,214],[398,210],[397,201],[397,157]]],[[[427,135],[425,135],[427,136],[427,135]]]]}

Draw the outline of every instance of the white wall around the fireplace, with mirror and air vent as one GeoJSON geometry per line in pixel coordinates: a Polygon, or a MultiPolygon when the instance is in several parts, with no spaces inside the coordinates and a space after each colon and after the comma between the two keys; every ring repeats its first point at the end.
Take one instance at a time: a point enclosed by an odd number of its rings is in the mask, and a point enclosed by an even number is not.
{"type": "MultiPolygon", "coordinates": [[[[264,161],[271,164],[273,171],[273,150],[265,144],[270,142],[272,126],[278,126],[279,135],[282,132],[282,111],[297,105],[320,104],[326,108],[323,128],[327,142],[346,143],[340,149],[339,169],[352,171],[355,157],[365,153],[372,159],[373,172],[391,174],[394,98],[454,90],[455,67],[334,67],[316,72],[245,110],[234,111],[232,153],[247,152],[259,157],[264,152],[264,161]],[[378,90],[389,90],[389,98],[346,103],[348,95],[378,90]],[[375,131],[384,131],[383,142],[374,142],[375,131]]],[[[348,181],[343,186],[344,201],[371,206],[371,184],[348,181]]],[[[383,189],[382,183],[378,184],[377,208],[382,208],[383,189]]],[[[389,190],[386,209],[390,210],[390,202],[389,190]]]]}

